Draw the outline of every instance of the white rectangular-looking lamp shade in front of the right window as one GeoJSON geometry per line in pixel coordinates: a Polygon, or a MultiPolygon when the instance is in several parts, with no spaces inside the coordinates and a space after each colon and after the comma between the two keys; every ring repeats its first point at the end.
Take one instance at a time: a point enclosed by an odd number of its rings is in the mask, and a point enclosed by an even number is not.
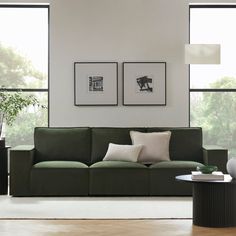
{"type": "Polygon", "coordinates": [[[220,64],[220,44],[185,44],[185,64],[220,64]]]}

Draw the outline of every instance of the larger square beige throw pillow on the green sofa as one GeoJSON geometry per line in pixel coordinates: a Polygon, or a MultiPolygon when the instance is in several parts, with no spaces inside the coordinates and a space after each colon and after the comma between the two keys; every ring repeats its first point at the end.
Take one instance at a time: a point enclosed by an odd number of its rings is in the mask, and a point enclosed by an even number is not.
{"type": "Polygon", "coordinates": [[[151,164],[159,161],[170,161],[170,136],[170,131],[153,133],[130,131],[132,143],[134,145],[143,145],[138,162],[151,164]]]}

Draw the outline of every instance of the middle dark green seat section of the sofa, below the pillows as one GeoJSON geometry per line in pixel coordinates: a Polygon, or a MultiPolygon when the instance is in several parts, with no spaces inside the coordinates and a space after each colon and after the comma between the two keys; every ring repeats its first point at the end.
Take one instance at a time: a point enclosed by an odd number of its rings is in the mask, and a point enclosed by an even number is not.
{"type": "Polygon", "coordinates": [[[90,166],[89,194],[97,196],[147,196],[149,173],[145,165],[102,161],[90,166]]]}

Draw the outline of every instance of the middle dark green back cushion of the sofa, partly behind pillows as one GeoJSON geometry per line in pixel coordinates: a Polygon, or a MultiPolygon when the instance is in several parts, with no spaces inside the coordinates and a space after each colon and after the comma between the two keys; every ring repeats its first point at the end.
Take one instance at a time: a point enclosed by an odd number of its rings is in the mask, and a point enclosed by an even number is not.
{"type": "Polygon", "coordinates": [[[145,132],[145,128],[92,128],[92,163],[102,161],[109,143],[132,144],[129,132],[145,132]]]}

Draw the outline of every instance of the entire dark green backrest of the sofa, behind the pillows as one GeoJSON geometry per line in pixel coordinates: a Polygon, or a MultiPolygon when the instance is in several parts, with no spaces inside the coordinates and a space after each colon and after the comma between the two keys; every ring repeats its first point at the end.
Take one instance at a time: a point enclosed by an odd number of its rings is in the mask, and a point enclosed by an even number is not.
{"type": "Polygon", "coordinates": [[[130,131],[171,131],[171,160],[203,162],[201,128],[78,127],[35,128],[36,162],[52,160],[80,161],[87,165],[102,161],[109,143],[131,145],[130,131]]]}

